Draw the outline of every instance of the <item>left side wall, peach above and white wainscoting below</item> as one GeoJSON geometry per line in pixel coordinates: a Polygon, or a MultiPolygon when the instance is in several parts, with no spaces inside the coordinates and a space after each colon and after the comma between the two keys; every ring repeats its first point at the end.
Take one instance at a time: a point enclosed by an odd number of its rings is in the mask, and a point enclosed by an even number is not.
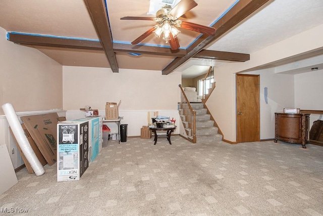
{"type": "MultiPolygon", "coordinates": [[[[16,112],[62,108],[62,73],[62,65],[34,48],[15,45],[0,27],[0,105],[11,103],[16,112]]],[[[0,145],[7,145],[14,168],[24,163],[2,108],[0,145]]]]}

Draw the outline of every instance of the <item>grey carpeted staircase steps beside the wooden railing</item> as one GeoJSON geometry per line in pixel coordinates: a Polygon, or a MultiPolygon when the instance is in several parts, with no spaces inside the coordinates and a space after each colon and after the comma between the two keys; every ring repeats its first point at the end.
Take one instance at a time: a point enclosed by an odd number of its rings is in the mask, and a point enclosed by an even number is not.
{"type": "MultiPolygon", "coordinates": [[[[196,111],[196,143],[221,141],[222,135],[218,134],[218,127],[213,126],[214,121],[211,120],[211,115],[207,114],[207,109],[202,103],[191,103],[192,108],[196,111]]],[[[192,130],[189,128],[189,122],[185,121],[183,109],[179,109],[179,113],[185,128],[187,138],[193,140],[192,130]]]]}

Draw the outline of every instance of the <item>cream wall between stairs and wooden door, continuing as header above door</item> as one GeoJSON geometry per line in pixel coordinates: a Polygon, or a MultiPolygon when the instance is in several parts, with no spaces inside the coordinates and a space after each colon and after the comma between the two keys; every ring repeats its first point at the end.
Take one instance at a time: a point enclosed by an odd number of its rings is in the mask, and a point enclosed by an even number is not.
{"type": "MultiPolygon", "coordinates": [[[[206,105],[221,128],[225,140],[236,141],[235,73],[322,49],[323,40],[321,35],[323,35],[323,25],[316,26],[277,44],[251,53],[250,60],[247,62],[226,64],[214,70],[217,87],[210,95],[206,105]]],[[[266,137],[271,134],[269,131],[261,133],[264,133],[266,137]]]]}

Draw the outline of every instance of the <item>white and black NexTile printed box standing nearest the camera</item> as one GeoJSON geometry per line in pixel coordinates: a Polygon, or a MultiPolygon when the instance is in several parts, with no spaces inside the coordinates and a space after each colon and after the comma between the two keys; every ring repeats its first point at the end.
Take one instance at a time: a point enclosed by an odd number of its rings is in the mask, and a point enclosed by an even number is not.
{"type": "Polygon", "coordinates": [[[89,165],[89,121],[59,122],[57,138],[57,181],[80,180],[89,165]]]}

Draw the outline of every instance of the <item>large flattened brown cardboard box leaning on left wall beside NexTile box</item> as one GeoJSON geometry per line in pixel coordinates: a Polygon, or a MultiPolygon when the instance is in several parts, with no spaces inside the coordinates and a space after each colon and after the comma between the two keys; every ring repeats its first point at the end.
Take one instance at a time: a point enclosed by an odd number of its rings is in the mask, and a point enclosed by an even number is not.
{"type": "Polygon", "coordinates": [[[53,165],[57,160],[57,113],[22,116],[30,136],[35,141],[38,149],[46,159],[48,165],[53,165]]]}

